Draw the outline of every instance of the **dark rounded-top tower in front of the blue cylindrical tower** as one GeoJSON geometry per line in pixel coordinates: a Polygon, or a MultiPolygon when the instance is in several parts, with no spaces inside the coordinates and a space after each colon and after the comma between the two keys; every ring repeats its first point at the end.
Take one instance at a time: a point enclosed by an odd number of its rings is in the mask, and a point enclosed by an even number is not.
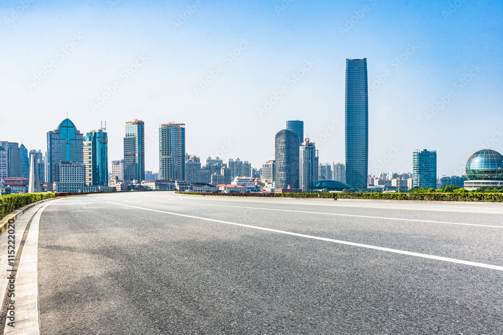
{"type": "Polygon", "coordinates": [[[275,138],[276,184],[279,189],[299,188],[299,136],[282,130],[275,138]]]}

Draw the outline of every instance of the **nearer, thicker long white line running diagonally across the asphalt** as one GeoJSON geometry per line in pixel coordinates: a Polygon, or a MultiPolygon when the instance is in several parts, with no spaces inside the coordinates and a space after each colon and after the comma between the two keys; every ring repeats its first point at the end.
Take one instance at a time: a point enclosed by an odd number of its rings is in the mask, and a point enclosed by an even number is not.
{"type": "Polygon", "coordinates": [[[246,227],[246,228],[253,228],[253,229],[258,229],[258,230],[267,231],[267,232],[273,232],[273,233],[279,233],[279,234],[285,234],[285,235],[292,235],[292,236],[298,236],[298,237],[304,237],[304,238],[307,238],[307,239],[320,240],[320,241],[326,241],[326,242],[333,242],[333,243],[344,244],[344,245],[348,245],[348,246],[361,247],[361,248],[367,248],[367,249],[374,249],[374,250],[386,251],[386,252],[395,253],[395,254],[402,254],[402,255],[408,255],[408,256],[428,258],[428,259],[434,259],[434,260],[438,260],[438,261],[457,263],[457,264],[464,264],[464,265],[471,265],[471,266],[476,266],[476,267],[480,267],[480,268],[486,268],[486,269],[503,271],[503,266],[490,265],[490,264],[477,263],[477,262],[470,262],[470,261],[463,261],[463,260],[455,259],[455,258],[448,258],[448,257],[434,256],[434,255],[428,255],[428,254],[414,253],[414,252],[410,252],[410,251],[403,251],[403,250],[397,250],[397,249],[376,247],[376,246],[371,246],[371,245],[368,245],[368,244],[353,243],[353,242],[347,242],[347,241],[341,241],[341,240],[333,240],[333,239],[327,239],[327,238],[324,238],[324,237],[317,237],[317,236],[311,236],[311,235],[305,235],[305,234],[285,232],[285,231],[280,231],[280,230],[277,230],[277,229],[270,229],[270,228],[264,228],[264,227],[257,227],[257,226],[243,225],[243,224],[236,224],[235,222],[221,221],[221,220],[215,220],[215,219],[212,219],[212,218],[192,216],[192,215],[167,212],[167,211],[157,210],[157,209],[150,209],[150,208],[143,208],[143,207],[125,205],[125,204],[122,204],[122,203],[117,203],[117,202],[112,202],[112,201],[108,201],[108,202],[116,204],[116,205],[120,205],[120,206],[126,206],[126,207],[132,207],[132,208],[138,208],[138,209],[144,209],[144,210],[150,210],[150,211],[154,211],[154,212],[171,214],[171,215],[177,215],[177,216],[197,218],[197,219],[200,219],[200,220],[218,222],[220,224],[233,225],[233,226],[246,227]]]}

